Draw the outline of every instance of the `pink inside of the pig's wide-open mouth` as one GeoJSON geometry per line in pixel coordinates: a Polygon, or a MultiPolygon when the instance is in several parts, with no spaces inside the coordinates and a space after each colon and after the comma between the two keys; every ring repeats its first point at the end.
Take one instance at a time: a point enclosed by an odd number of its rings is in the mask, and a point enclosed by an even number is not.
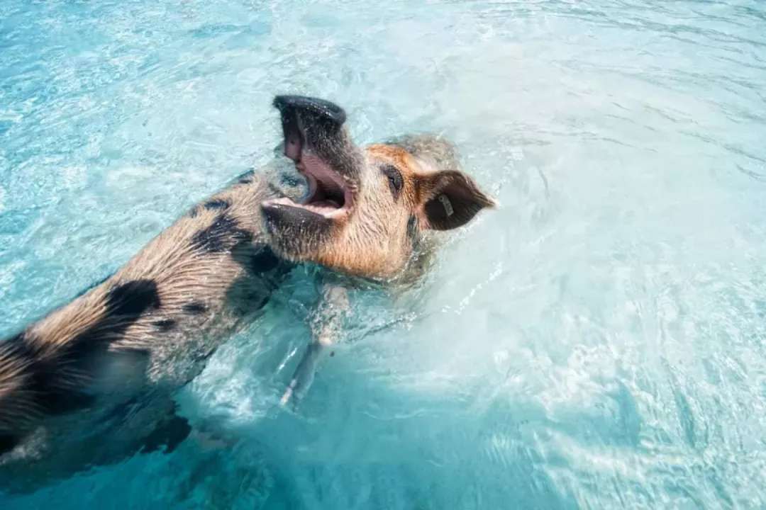
{"type": "Polygon", "coordinates": [[[296,162],[296,170],[309,184],[309,193],[300,203],[283,197],[267,200],[264,205],[281,204],[300,207],[326,218],[348,214],[354,205],[354,193],[346,180],[322,158],[314,154],[303,154],[296,162]]]}

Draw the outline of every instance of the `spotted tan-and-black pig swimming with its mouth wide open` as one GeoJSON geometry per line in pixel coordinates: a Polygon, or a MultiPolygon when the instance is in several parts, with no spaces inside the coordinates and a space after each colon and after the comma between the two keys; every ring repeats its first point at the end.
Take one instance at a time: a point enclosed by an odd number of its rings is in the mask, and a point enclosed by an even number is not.
{"type": "MultiPolygon", "coordinates": [[[[457,170],[447,141],[419,135],[361,149],[339,106],[300,96],[273,105],[303,196],[273,171],[244,174],[106,281],[0,341],[6,489],[136,450],[172,450],[190,430],[174,392],[257,317],[293,265],[384,283],[417,278],[413,261],[430,234],[494,206],[457,170]],[[9,482],[11,473],[23,481],[9,482]]],[[[327,295],[342,301],[337,289],[327,295]]],[[[316,346],[328,341],[316,338],[291,390],[313,376],[316,346]]]]}

